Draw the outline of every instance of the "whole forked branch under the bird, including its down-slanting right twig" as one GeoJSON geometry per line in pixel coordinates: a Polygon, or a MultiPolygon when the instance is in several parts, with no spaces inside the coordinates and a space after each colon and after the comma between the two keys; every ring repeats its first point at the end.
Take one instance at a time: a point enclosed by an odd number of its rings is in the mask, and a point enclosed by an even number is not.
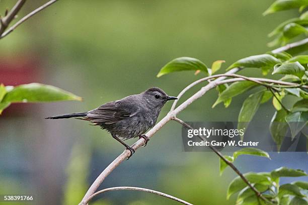
{"type": "MultiPolygon", "coordinates": [[[[301,40],[299,42],[295,42],[292,44],[288,44],[286,46],[283,46],[281,48],[275,49],[272,51],[272,53],[279,53],[279,52],[283,52],[283,51],[287,51],[290,49],[293,49],[295,47],[299,47],[302,45],[305,45],[308,43],[308,38],[301,40]]],[[[291,82],[284,82],[284,81],[279,81],[279,80],[271,80],[271,79],[265,79],[265,78],[253,78],[253,77],[246,77],[246,76],[242,76],[242,75],[238,75],[235,74],[236,72],[238,72],[241,68],[233,68],[232,70],[229,70],[228,72],[224,73],[224,74],[218,74],[218,75],[212,75],[209,77],[205,77],[202,79],[199,79],[193,83],[191,83],[190,85],[188,85],[187,87],[185,87],[179,94],[178,94],[178,98],[180,98],[187,90],[189,90],[191,87],[195,86],[198,83],[201,83],[203,81],[208,81],[210,79],[214,79],[208,82],[207,85],[203,86],[199,91],[197,91],[195,94],[193,94],[191,97],[189,97],[187,100],[185,100],[180,106],[178,106],[176,108],[178,99],[174,101],[170,112],[159,122],[157,123],[152,129],[150,129],[147,133],[146,136],[148,138],[151,138],[154,134],[156,134],[165,124],[167,124],[169,121],[174,120],[180,124],[182,124],[183,126],[187,127],[187,128],[191,128],[188,124],[186,124],[184,121],[180,120],[179,118],[176,117],[176,115],[178,113],[180,113],[181,111],[183,111],[185,108],[187,108],[187,106],[189,106],[193,101],[195,101],[196,99],[200,98],[201,96],[203,96],[208,90],[218,86],[219,84],[224,84],[224,83],[229,83],[229,82],[235,82],[235,81],[239,81],[239,80],[250,80],[250,81],[254,81],[258,84],[264,85],[264,86],[270,86],[272,87],[272,84],[274,85],[290,85],[290,86],[301,86],[299,84],[296,83],[291,83],[291,82]],[[232,77],[230,79],[226,79],[226,77],[232,77]],[[268,83],[272,83],[272,84],[268,84],[268,83]]],[[[303,85],[302,87],[308,88],[308,86],[303,85]]],[[[201,139],[202,137],[199,136],[201,139]]],[[[204,140],[204,139],[202,139],[204,140]]],[[[206,140],[206,139],[205,139],[206,140]]],[[[145,143],[144,139],[139,139],[137,142],[135,142],[132,147],[137,150],[139,147],[141,147],[142,144],[145,143]]],[[[211,149],[215,152],[215,154],[218,155],[218,157],[220,157],[228,166],[230,166],[242,179],[243,181],[255,192],[256,196],[259,199],[262,199],[264,202],[266,202],[267,204],[272,204],[271,201],[269,201],[267,198],[265,198],[262,193],[260,193],[254,186],[252,183],[250,183],[247,178],[239,171],[239,169],[230,161],[228,161],[225,157],[223,157],[223,155],[216,150],[214,147],[211,147],[211,149]]],[[[98,187],[101,185],[101,183],[104,181],[104,179],[121,163],[125,160],[126,157],[129,156],[129,151],[124,150],[122,152],[122,154],[120,154],[113,162],[111,162],[106,168],[105,170],[103,170],[103,172],[97,177],[97,179],[93,182],[93,184],[90,186],[89,190],[87,191],[87,193],[85,194],[85,196],[83,197],[80,205],[85,205],[87,204],[90,199],[92,198],[92,195],[97,195],[98,193],[101,192],[105,192],[103,190],[96,192],[96,190],[98,189],[98,187]]],[[[114,187],[116,188],[116,187],[114,187]]]]}

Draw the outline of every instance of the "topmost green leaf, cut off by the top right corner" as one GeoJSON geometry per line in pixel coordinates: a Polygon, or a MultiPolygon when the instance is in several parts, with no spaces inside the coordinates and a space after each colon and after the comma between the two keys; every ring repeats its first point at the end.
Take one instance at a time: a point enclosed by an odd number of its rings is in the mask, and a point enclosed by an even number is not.
{"type": "Polygon", "coordinates": [[[263,13],[263,15],[265,16],[275,12],[300,8],[307,5],[307,0],[277,0],[263,13]]]}

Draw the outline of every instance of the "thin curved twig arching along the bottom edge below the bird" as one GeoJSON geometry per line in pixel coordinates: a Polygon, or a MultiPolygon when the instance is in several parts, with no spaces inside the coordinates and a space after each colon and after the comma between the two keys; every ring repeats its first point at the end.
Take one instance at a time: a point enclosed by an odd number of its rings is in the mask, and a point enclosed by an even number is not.
{"type": "Polygon", "coordinates": [[[180,198],[177,198],[175,196],[172,196],[172,195],[169,195],[167,193],[163,193],[163,192],[160,192],[160,191],[156,191],[156,190],[151,190],[151,189],[147,189],[147,188],[140,188],[140,187],[132,187],[132,186],[118,186],[118,187],[111,187],[111,188],[105,188],[105,189],[102,189],[100,191],[97,191],[95,192],[94,194],[92,194],[87,201],[85,201],[84,203],[80,203],[80,205],[84,205],[84,204],[87,204],[94,196],[100,194],[100,193],[104,193],[104,192],[107,192],[107,191],[116,191],[116,190],[133,190],[133,191],[144,191],[144,192],[148,192],[148,193],[154,193],[154,194],[157,194],[157,195],[160,195],[160,196],[164,196],[164,197],[167,197],[167,198],[170,198],[172,200],[175,200],[175,201],[178,201],[180,203],[183,203],[183,204],[186,204],[186,205],[193,205],[192,203],[189,203],[185,200],[182,200],[180,198]]]}

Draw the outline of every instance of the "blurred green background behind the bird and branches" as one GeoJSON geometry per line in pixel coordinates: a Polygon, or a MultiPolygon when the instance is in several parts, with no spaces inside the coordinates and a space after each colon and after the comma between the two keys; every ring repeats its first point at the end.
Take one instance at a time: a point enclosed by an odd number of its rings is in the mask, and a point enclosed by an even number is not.
{"type": "MultiPolygon", "coordinates": [[[[28,1],[19,16],[44,2],[28,1]]],[[[263,17],[271,3],[61,0],[28,20],[0,40],[0,81],[6,85],[33,81],[51,84],[84,97],[84,101],[13,105],[4,111],[0,117],[0,194],[33,194],[33,204],[79,203],[123,147],[107,132],[84,121],[47,121],[44,117],[88,111],[151,86],[177,95],[202,73],[156,78],[160,68],[176,57],[195,57],[208,66],[225,60],[223,72],[240,58],[270,50],[267,34],[296,15],[290,11],[263,17]],[[25,72],[20,74],[18,69],[25,72]],[[3,72],[13,77],[5,77],[3,72]]],[[[1,14],[14,4],[2,0],[1,14]]],[[[257,69],[242,73],[261,76],[257,69]]],[[[233,99],[228,109],[222,105],[211,109],[217,97],[211,90],[179,117],[185,121],[237,121],[244,96],[233,99]]],[[[165,106],[159,120],[170,107],[170,103],[165,106]]],[[[270,121],[273,113],[268,102],[255,119],[270,121]]],[[[126,142],[132,144],[134,140],[126,142]]],[[[117,167],[101,188],[138,186],[194,204],[234,204],[235,197],[226,200],[226,189],[235,173],[228,169],[219,176],[218,158],[213,153],[183,152],[181,143],[181,126],[168,123],[146,148],[117,167]]],[[[236,164],[243,172],[270,171],[282,165],[308,168],[302,163],[308,159],[306,153],[270,155],[272,161],[243,156],[236,164]],[[291,160],[294,157],[298,160],[291,160]]],[[[96,199],[92,204],[177,204],[135,191],[108,192],[96,199]]]]}

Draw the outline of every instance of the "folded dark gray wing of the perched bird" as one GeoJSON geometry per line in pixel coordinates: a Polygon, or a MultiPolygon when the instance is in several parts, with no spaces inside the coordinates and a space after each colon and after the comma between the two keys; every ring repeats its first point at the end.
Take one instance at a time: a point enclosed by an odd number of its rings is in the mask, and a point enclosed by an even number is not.
{"type": "Polygon", "coordinates": [[[113,124],[125,118],[134,116],[139,111],[139,106],[133,101],[112,101],[89,111],[87,119],[93,123],[113,124]]]}

